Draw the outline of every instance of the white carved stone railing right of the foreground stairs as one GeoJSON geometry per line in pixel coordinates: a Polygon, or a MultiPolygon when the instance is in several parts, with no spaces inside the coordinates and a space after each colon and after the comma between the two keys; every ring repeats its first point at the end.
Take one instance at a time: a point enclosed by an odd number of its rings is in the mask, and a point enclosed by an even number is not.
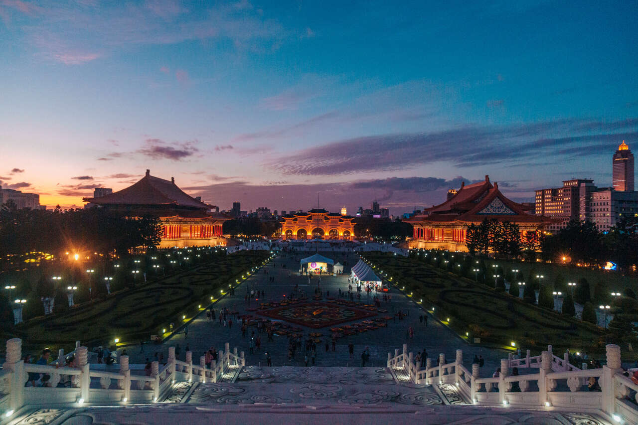
{"type": "Polygon", "coordinates": [[[638,424],[638,397],[628,399],[632,391],[638,392],[638,385],[623,375],[617,345],[607,345],[607,364],[602,369],[584,370],[570,364],[567,354],[561,359],[551,353],[551,346],[548,348],[535,357],[528,352],[524,359],[502,359],[498,377],[479,377],[478,364],[473,364],[470,372],[463,366],[461,350],[456,351],[452,363],[446,364],[440,354],[437,366],[426,359],[426,367],[420,368],[404,345],[403,353],[395,350],[394,356],[388,354],[387,366],[403,369],[413,384],[455,384],[475,405],[602,410],[614,420],[638,424]],[[537,368],[538,373],[512,375],[512,368],[537,368]]]}

